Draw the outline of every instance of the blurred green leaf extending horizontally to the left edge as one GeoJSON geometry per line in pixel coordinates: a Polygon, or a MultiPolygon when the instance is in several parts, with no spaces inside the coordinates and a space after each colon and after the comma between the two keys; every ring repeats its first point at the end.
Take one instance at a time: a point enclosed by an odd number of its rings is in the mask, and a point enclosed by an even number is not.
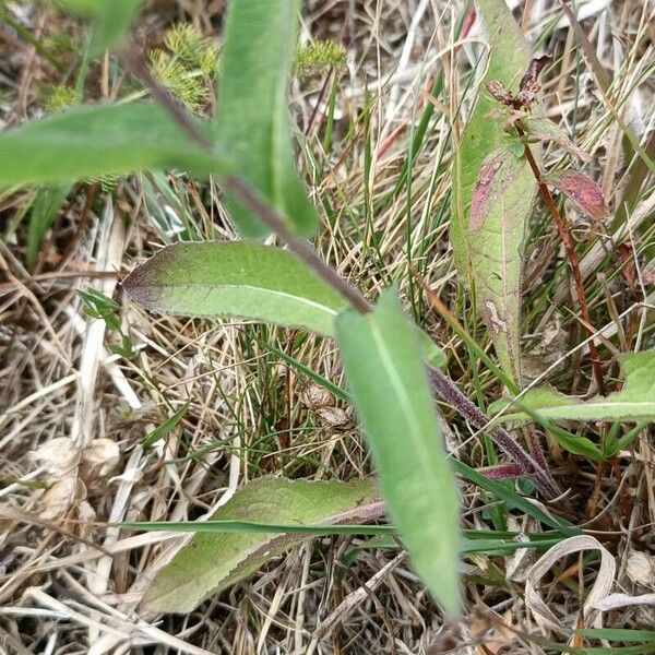
{"type": "Polygon", "coordinates": [[[162,108],[147,103],[75,108],[0,134],[2,186],[172,167],[199,175],[226,170],[224,160],[196,147],[162,108]]]}

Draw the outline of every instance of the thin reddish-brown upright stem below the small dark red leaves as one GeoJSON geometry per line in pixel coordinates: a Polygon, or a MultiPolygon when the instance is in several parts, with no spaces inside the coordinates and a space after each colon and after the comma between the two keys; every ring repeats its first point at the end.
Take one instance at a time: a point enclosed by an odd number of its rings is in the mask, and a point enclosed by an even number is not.
{"type": "MultiPolygon", "coordinates": [[[[525,132],[521,128],[520,124],[515,126],[516,131],[520,136],[524,136],[525,132]]],[[[541,171],[535,160],[532,151],[529,150],[529,145],[525,144],[525,157],[529,167],[535,176],[535,180],[537,180],[537,184],[539,188],[539,193],[555,221],[555,225],[557,226],[557,230],[559,233],[562,245],[564,246],[564,250],[567,251],[567,258],[569,260],[569,265],[571,266],[571,272],[573,273],[573,279],[575,282],[575,291],[577,294],[577,302],[580,305],[580,313],[582,314],[582,319],[584,322],[584,326],[586,327],[590,335],[593,337],[595,334],[595,329],[593,327],[592,320],[590,318],[590,308],[586,301],[586,295],[584,290],[584,283],[582,281],[582,274],[580,272],[580,261],[577,259],[577,253],[575,252],[575,248],[573,247],[573,238],[571,237],[571,230],[569,226],[564,222],[564,219],[560,216],[559,210],[555,204],[555,200],[552,200],[552,195],[548,190],[548,187],[541,179],[541,171]]],[[[600,359],[598,357],[598,349],[596,348],[596,344],[594,340],[590,340],[590,358],[592,360],[592,367],[594,368],[594,377],[596,378],[596,384],[598,385],[598,392],[602,395],[605,395],[605,382],[603,381],[603,371],[600,370],[600,359]]]]}

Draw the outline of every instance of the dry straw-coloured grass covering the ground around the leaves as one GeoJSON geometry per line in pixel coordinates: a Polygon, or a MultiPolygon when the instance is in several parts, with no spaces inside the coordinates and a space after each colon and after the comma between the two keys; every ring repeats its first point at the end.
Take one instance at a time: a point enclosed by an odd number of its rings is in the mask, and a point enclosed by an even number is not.
{"type": "MultiPolygon", "coordinates": [[[[216,34],[222,3],[209,3],[209,10],[204,4],[153,2],[139,29],[153,46],[177,20],[216,34]]],[[[475,402],[487,403],[500,393],[498,381],[430,310],[409,275],[412,264],[478,343],[489,347],[456,283],[448,245],[451,126],[454,120],[458,129],[458,114],[471,100],[462,71],[474,61],[475,47],[463,44],[453,56],[455,22],[465,3],[306,4],[303,37],[342,39],[349,56],[338,80],[338,120],[329,152],[322,141],[330,83],[315,76],[294,85],[303,166],[324,222],[318,247],[371,298],[397,284],[416,319],[445,346],[451,377],[475,402]],[[444,85],[431,97],[427,92],[440,71],[444,85]],[[410,193],[404,188],[394,194],[418,120],[430,104],[436,110],[429,132],[420,152],[412,155],[410,193]]],[[[511,4],[536,48],[555,56],[545,85],[547,115],[593,154],[591,172],[616,212],[630,171],[612,111],[621,111],[639,138],[653,134],[653,15],[638,0],[577,1],[584,29],[615,76],[603,99],[558,3],[511,4]]],[[[73,62],[67,40],[75,39],[76,32],[44,4],[7,7],[64,64],[57,72],[11,26],[0,25],[0,119],[12,124],[43,111],[48,85],[74,82],[62,75],[73,62]]],[[[476,29],[469,40],[477,38],[476,29]]],[[[127,85],[107,60],[92,67],[86,97],[111,98],[127,85]]],[[[546,160],[552,167],[565,165],[557,147],[548,150],[546,160]]],[[[166,176],[121,180],[114,194],[79,184],[48,233],[35,269],[27,271],[22,263],[26,221],[21,219],[32,198],[24,190],[0,194],[5,236],[0,245],[0,650],[94,655],[552,652],[519,634],[539,634],[523,599],[532,552],[521,561],[466,558],[466,620],[456,626],[443,624],[397,549],[364,549],[345,567],[344,556],[364,541],[352,537],[308,540],[189,616],[138,616],[134,607],[148,579],[179,538],[134,536],[96,522],[194,520],[263,474],[352,479],[370,473],[370,462],[347,407],[325,412],[303,403],[308,380],[270,347],[340,383],[334,344],[263,326],[150,317],[117,286],[117,272],[130,271],[179,238],[163,228],[165,221],[169,228],[175,225],[172,214],[189,226],[190,237],[237,238],[218,189],[166,176]],[[78,290],[90,287],[121,303],[123,331],[138,349],[133,359],[111,355],[120,336],[84,314],[78,290]],[[144,437],[186,402],[190,409],[179,429],[144,451],[144,437]]],[[[634,195],[628,227],[576,223],[576,238],[588,243],[582,248],[591,253],[583,258],[591,273],[587,294],[595,326],[606,327],[608,361],[617,348],[653,347],[652,314],[648,319],[644,303],[648,297],[653,306],[653,178],[647,178],[634,195]],[[614,243],[606,230],[616,231],[614,243]]],[[[532,354],[531,377],[584,392],[592,378],[584,350],[575,348],[584,330],[571,311],[560,251],[546,213],[536,210],[526,271],[525,350],[532,354]]],[[[617,372],[611,367],[607,379],[617,372]]],[[[483,439],[448,407],[444,414],[452,452],[471,465],[488,464],[483,439]]],[[[600,432],[599,426],[580,428],[596,441],[600,432]]],[[[634,550],[655,562],[652,434],[644,430],[615,469],[548,445],[555,475],[569,489],[556,511],[596,531],[617,557],[617,591],[648,591],[647,576],[635,577],[629,564],[634,550]]],[[[465,524],[488,526],[488,498],[474,487],[463,491],[465,524]]],[[[508,519],[511,527],[536,529],[526,516],[508,519]]],[[[556,571],[558,584],[544,592],[559,616],[576,610],[596,575],[594,565],[580,567],[576,558],[567,564],[556,571]]],[[[655,611],[621,609],[606,623],[643,629],[655,623],[655,611]]],[[[561,641],[557,633],[548,635],[561,641]]]]}

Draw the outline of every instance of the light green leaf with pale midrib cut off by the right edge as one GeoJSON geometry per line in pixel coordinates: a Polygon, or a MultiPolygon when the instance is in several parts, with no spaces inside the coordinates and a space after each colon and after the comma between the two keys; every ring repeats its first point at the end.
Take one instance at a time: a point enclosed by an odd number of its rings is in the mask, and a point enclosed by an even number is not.
{"type": "MultiPolygon", "coordinates": [[[[596,396],[591,401],[564,395],[553,389],[528,391],[517,403],[548,419],[565,420],[644,420],[655,419],[655,352],[626,353],[620,356],[624,382],[621,391],[608,396],[596,396]]],[[[513,402],[501,400],[489,410],[512,409],[513,402]]],[[[505,412],[495,422],[526,419],[525,412],[505,412]]]]}

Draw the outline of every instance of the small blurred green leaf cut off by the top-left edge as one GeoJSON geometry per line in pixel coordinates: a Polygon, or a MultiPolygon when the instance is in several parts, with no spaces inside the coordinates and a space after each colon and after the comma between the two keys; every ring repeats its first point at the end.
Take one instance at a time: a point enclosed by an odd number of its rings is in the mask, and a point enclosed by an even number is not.
{"type": "Polygon", "coordinates": [[[123,39],[143,0],[59,0],[64,9],[94,20],[92,51],[97,55],[123,39]]]}

